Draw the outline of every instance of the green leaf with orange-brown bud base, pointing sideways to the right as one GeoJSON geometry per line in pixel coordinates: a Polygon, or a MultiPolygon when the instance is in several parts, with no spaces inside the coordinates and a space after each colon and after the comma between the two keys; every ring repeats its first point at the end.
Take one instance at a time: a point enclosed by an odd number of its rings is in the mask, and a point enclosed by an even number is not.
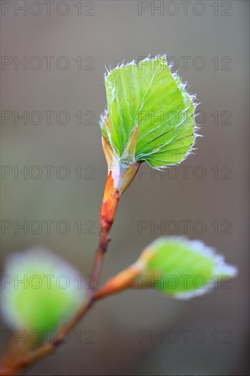
{"type": "Polygon", "coordinates": [[[236,276],[235,267],[224,263],[202,241],[161,237],[143,250],[135,264],[111,278],[99,297],[125,288],[155,288],[173,297],[189,299],[206,293],[219,280],[236,276]]]}

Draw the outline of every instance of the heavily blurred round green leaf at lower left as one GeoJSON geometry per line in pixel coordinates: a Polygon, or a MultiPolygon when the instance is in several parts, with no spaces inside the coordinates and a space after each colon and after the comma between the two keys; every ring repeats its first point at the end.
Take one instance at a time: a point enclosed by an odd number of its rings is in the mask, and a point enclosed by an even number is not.
{"type": "Polygon", "coordinates": [[[45,335],[81,306],[79,272],[64,260],[33,248],[11,256],[1,280],[1,314],[10,327],[45,335]]]}

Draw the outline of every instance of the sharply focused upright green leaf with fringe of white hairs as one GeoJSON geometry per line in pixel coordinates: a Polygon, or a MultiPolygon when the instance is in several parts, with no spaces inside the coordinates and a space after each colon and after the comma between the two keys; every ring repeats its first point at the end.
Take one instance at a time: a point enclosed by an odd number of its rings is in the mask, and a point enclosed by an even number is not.
{"type": "Polygon", "coordinates": [[[105,77],[105,88],[100,126],[122,170],[138,161],[163,167],[186,157],[195,142],[195,97],[171,73],[166,56],[117,66],[105,77]],[[136,126],[137,143],[128,158],[136,126]]]}

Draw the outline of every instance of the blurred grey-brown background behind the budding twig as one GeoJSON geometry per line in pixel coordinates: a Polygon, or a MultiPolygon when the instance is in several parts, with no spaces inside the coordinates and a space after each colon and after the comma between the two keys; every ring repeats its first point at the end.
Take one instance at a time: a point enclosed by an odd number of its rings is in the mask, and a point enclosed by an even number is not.
{"type": "Polygon", "coordinates": [[[117,210],[101,282],[163,232],[201,239],[239,269],[229,289],[191,301],[155,291],[101,301],[68,344],[26,374],[248,375],[249,2],[2,1],[1,7],[3,263],[38,244],[89,273],[107,176],[98,125],[105,66],[167,53],[202,103],[203,137],[176,169],[160,175],[142,165],[117,210]],[[17,64],[24,59],[27,66],[17,64]],[[18,118],[24,111],[26,125],[18,118]],[[51,124],[47,111],[54,111],[51,124]],[[24,169],[27,176],[16,174],[24,169]],[[24,221],[27,234],[18,228],[24,221]],[[85,330],[94,331],[94,344],[86,343],[85,330]],[[149,334],[141,343],[140,330],[149,334]],[[154,338],[161,330],[163,343],[154,338]]]}

